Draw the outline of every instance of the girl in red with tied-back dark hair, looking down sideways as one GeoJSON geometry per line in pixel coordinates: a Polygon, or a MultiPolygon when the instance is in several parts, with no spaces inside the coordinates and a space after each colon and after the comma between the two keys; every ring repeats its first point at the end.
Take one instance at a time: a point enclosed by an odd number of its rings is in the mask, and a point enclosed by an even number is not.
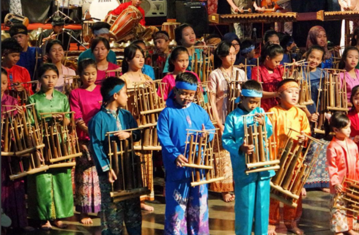
{"type": "Polygon", "coordinates": [[[283,67],[279,65],[283,59],[284,50],[277,44],[266,44],[261,52],[259,67],[253,67],[252,79],[262,83],[263,98],[261,108],[266,112],[277,105],[277,85],[283,80],[283,67]]]}

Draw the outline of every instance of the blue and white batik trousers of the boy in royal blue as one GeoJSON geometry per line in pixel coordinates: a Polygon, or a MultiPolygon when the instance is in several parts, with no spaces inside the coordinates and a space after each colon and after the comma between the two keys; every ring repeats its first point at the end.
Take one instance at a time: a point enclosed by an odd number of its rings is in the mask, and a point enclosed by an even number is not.
{"type": "Polygon", "coordinates": [[[208,185],[166,181],[165,235],[209,235],[208,185]]]}

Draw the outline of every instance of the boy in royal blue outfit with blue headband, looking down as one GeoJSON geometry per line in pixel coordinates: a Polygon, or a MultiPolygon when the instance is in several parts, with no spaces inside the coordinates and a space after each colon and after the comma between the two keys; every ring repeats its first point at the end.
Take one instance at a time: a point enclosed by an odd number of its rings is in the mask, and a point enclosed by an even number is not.
{"type": "Polygon", "coordinates": [[[207,112],[192,103],[197,84],[193,73],[179,74],[157,122],[166,170],[165,235],[209,234],[208,185],[191,187],[191,170],[182,167],[188,162],[184,156],[186,129],[214,129],[207,112]]]}

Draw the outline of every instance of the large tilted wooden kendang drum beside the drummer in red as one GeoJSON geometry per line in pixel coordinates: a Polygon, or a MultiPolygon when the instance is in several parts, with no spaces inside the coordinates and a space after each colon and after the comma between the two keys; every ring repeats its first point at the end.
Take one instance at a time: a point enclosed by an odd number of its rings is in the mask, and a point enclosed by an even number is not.
{"type": "Polygon", "coordinates": [[[131,32],[140,20],[142,19],[141,12],[134,6],[128,6],[118,16],[114,24],[110,28],[112,36],[119,41],[121,37],[131,32]]]}

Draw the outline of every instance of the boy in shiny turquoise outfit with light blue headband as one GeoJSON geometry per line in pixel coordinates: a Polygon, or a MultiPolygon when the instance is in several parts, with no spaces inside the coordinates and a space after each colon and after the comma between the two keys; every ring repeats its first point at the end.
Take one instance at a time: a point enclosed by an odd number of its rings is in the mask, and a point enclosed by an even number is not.
{"type": "Polygon", "coordinates": [[[227,116],[222,136],[223,147],[230,152],[235,181],[235,214],[236,235],[251,235],[254,219],[254,234],[268,234],[269,216],[269,181],[274,171],[245,173],[245,154],[254,151],[253,145],[248,145],[244,139],[244,115],[257,114],[246,117],[248,125],[258,122],[263,125],[266,118],[267,137],[272,134],[272,125],[265,111],[260,108],[263,89],[254,80],[248,80],[242,85],[240,97],[236,102],[238,107],[227,116]]]}

